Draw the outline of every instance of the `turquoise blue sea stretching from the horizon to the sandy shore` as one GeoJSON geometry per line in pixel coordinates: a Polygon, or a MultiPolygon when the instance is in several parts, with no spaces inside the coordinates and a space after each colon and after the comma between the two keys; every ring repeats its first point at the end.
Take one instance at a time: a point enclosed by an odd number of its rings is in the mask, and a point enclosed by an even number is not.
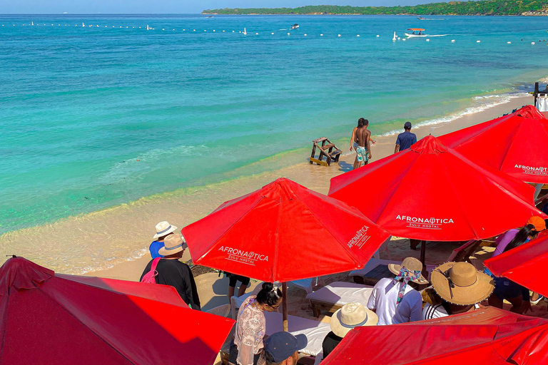
{"type": "Polygon", "coordinates": [[[377,135],[444,123],[548,76],[542,17],[429,19],[0,15],[0,233],[299,162],[360,117],[377,135]],[[409,27],[445,36],[392,41],[409,27]]]}

